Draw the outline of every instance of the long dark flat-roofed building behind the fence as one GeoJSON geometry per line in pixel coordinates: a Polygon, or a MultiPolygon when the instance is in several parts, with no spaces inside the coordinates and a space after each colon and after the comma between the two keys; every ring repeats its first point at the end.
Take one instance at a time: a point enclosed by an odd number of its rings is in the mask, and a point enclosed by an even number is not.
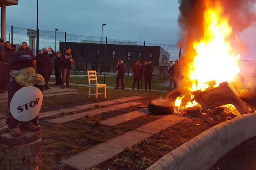
{"type": "Polygon", "coordinates": [[[60,49],[72,49],[76,61],[73,70],[96,70],[99,74],[116,75],[116,60],[122,59],[126,65],[126,75],[131,75],[137,60],[145,60],[153,65],[153,76],[166,76],[169,68],[170,54],[160,46],[118,45],[83,42],[60,42],[60,49]]]}

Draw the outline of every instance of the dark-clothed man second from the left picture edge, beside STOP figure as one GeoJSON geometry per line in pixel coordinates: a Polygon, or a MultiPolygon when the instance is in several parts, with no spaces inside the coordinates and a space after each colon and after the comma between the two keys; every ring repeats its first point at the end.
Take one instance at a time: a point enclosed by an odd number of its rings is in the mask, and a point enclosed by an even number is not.
{"type": "Polygon", "coordinates": [[[2,82],[0,84],[0,93],[4,93],[6,92],[6,87],[7,87],[7,84],[8,82],[10,81],[11,79],[11,76],[10,76],[10,70],[9,70],[9,65],[8,65],[8,62],[7,62],[7,59],[9,58],[9,56],[11,54],[13,54],[14,52],[11,50],[11,43],[9,41],[6,41],[5,42],[5,45],[4,45],[4,51],[5,51],[5,58],[4,58],[4,62],[7,63],[6,65],[3,65],[3,77],[2,77],[2,82]]]}

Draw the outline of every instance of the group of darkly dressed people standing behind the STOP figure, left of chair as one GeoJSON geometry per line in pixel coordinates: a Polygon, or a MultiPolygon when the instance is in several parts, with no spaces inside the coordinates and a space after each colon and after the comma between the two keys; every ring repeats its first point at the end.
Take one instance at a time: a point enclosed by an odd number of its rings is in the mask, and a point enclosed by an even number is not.
{"type": "MultiPolygon", "coordinates": [[[[0,93],[6,92],[6,87],[8,82],[10,82],[10,70],[8,65],[8,57],[16,51],[16,46],[11,45],[9,41],[4,42],[3,38],[0,38],[0,93]]],[[[56,52],[52,50],[51,47],[43,48],[37,51],[36,57],[34,57],[33,51],[27,46],[26,42],[22,42],[20,48],[17,51],[27,51],[31,57],[36,58],[37,62],[36,71],[44,77],[45,85],[44,90],[50,89],[48,82],[50,76],[52,75],[52,61],[51,58],[55,57],[54,60],[54,70],[55,70],[55,85],[61,85],[64,88],[66,83],[66,88],[69,88],[69,80],[71,74],[71,64],[75,61],[71,55],[71,48],[66,48],[66,51],[56,52]],[[62,72],[62,78],[61,78],[62,72]]]]}

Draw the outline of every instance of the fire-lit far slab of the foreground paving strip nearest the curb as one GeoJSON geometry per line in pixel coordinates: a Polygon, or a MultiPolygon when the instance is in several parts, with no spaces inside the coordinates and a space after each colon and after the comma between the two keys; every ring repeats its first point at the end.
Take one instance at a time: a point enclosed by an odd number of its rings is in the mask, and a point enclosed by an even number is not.
{"type": "Polygon", "coordinates": [[[155,134],[172,125],[175,125],[183,119],[185,118],[176,115],[164,116],[163,118],[158,119],[154,122],[150,122],[142,127],[137,128],[136,130],[140,132],[155,134]]]}

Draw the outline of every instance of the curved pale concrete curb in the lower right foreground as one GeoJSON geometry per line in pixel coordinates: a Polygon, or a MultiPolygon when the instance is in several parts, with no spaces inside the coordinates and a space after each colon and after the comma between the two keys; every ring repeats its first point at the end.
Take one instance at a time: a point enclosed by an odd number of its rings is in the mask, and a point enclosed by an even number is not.
{"type": "Polygon", "coordinates": [[[256,136],[256,112],[209,128],[152,164],[147,170],[208,170],[230,150],[256,136]]]}

